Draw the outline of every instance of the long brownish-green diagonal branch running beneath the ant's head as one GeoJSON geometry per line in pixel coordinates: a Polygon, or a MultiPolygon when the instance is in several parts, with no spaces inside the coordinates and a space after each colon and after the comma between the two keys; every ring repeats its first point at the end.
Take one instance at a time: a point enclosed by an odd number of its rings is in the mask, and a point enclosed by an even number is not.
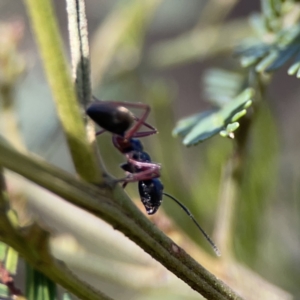
{"type": "MultiPolygon", "coordinates": [[[[20,154],[3,140],[0,141],[0,154],[1,165],[104,219],[204,297],[241,299],[158,230],[118,185],[111,194],[108,188],[77,180],[56,167],[20,154]]],[[[22,254],[27,259],[28,253],[23,251],[22,254]]]]}

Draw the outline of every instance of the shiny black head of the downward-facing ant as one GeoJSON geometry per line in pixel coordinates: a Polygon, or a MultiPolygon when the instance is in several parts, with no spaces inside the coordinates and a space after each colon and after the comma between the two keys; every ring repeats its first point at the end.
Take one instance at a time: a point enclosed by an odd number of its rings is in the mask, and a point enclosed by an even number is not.
{"type": "Polygon", "coordinates": [[[139,181],[139,193],[148,215],[157,212],[162,202],[164,186],[159,179],[139,181]]]}

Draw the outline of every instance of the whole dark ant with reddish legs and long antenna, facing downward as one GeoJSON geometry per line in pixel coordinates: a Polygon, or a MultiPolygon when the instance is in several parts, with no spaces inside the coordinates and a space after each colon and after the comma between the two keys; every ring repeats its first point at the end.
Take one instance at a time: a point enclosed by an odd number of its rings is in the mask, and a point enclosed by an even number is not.
{"type": "Polygon", "coordinates": [[[202,229],[188,208],[170,194],[163,192],[164,186],[158,179],[161,166],[151,161],[150,155],[144,151],[143,145],[138,139],[157,133],[153,126],[146,123],[150,113],[150,106],[143,103],[94,100],[95,102],[88,106],[86,113],[97,125],[103,128],[96,135],[100,135],[105,131],[110,132],[113,145],[127,158],[127,162],[121,164],[121,168],[127,173],[127,177],[119,179],[117,182],[123,182],[123,188],[129,182],[138,182],[141,201],[148,215],[156,213],[162,203],[163,195],[172,199],[192,219],[215,253],[220,256],[217,246],[202,229]],[[144,113],[138,118],[125,106],[143,109],[144,113]],[[138,131],[142,126],[147,127],[148,130],[138,131]]]}

